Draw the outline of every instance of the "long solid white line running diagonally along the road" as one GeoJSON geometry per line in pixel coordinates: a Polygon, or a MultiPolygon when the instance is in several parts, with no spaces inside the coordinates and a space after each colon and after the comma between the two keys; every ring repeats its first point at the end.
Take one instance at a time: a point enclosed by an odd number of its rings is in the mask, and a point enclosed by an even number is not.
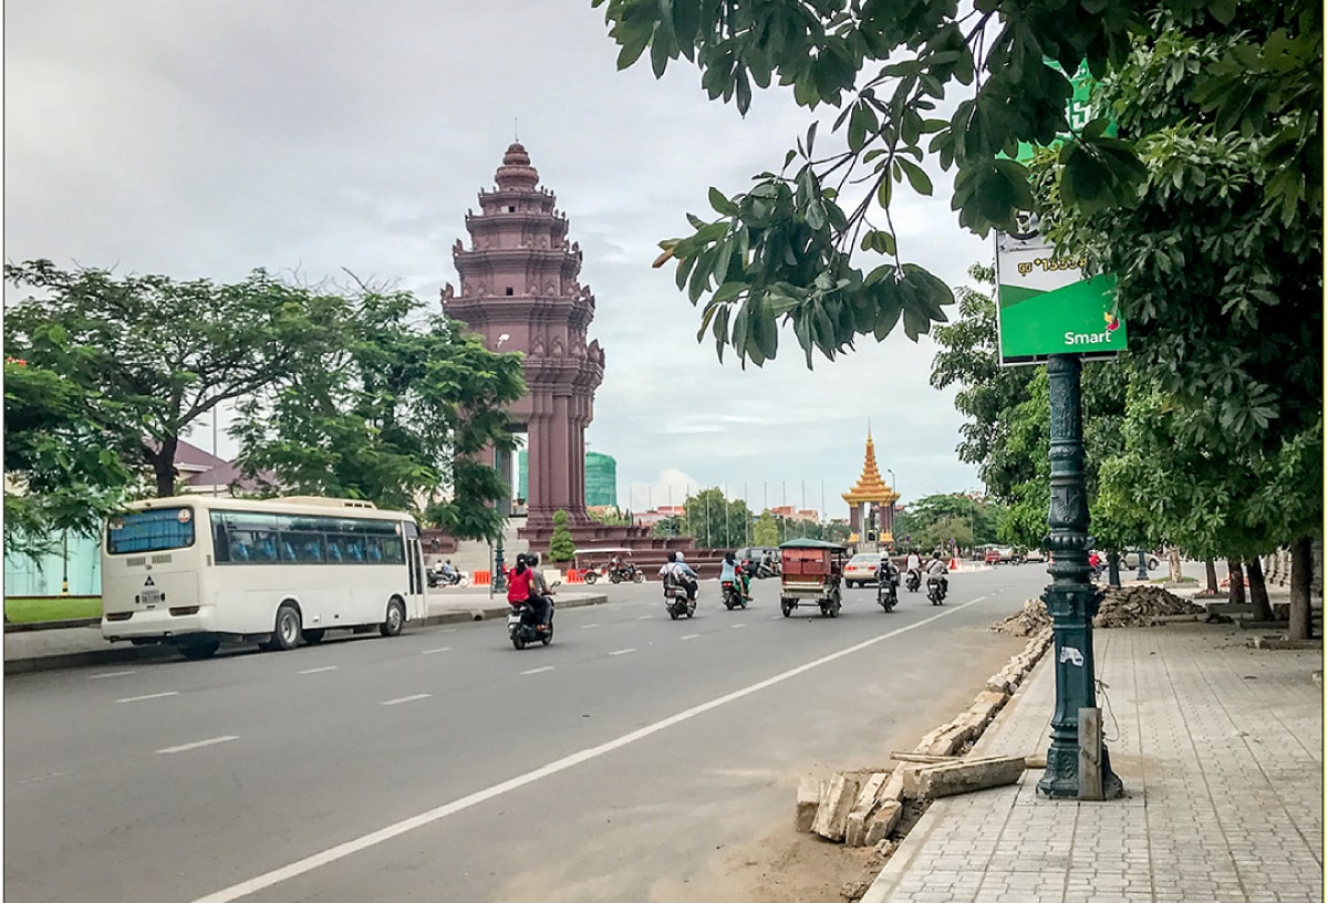
{"type": "Polygon", "coordinates": [[[899,636],[900,633],[907,633],[908,631],[915,631],[924,624],[932,623],[934,620],[948,617],[957,611],[968,608],[972,604],[975,603],[965,602],[961,606],[954,606],[952,608],[947,608],[946,611],[938,612],[919,621],[914,621],[912,624],[906,624],[904,627],[899,627],[887,633],[882,633],[880,636],[874,636],[870,640],[863,640],[862,643],[850,645],[845,649],[839,649],[838,652],[831,652],[830,655],[821,656],[819,659],[798,665],[797,668],[790,668],[784,673],[776,675],[773,677],[766,677],[765,680],[760,680],[749,687],[733,691],[732,693],[725,693],[724,696],[713,698],[709,702],[701,702],[700,705],[693,705],[692,708],[684,709],[677,714],[671,714],[669,717],[661,718],[655,724],[648,724],[644,728],[637,728],[631,733],[625,733],[622,737],[606,741],[598,746],[591,746],[588,749],[583,749],[570,756],[563,756],[562,758],[555,760],[542,768],[537,768],[529,772],[522,772],[514,778],[509,778],[490,787],[485,787],[483,790],[475,790],[471,794],[467,794],[458,799],[453,799],[449,803],[444,803],[442,806],[437,806],[428,811],[422,811],[418,815],[405,818],[400,822],[388,825],[386,827],[380,827],[376,831],[371,831],[368,834],[364,834],[363,837],[345,841],[344,843],[339,843],[333,847],[328,847],[327,850],[304,857],[303,859],[297,859],[290,864],[282,866],[280,868],[266,871],[262,875],[258,875],[256,878],[250,878],[248,880],[242,880],[238,884],[231,884],[230,887],[224,887],[219,891],[208,894],[207,896],[201,896],[197,900],[193,900],[193,903],[231,903],[231,900],[238,900],[242,896],[256,894],[275,884],[280,884],[284,880],[290,880],[291,878],[296,878],[305,872],[313,871],[315,868],[320,868],[321,866],[331,864],[340,859],[345,859],[347,857],[360,853],[361,850],[368,850],[380,843],[385,843],[386,841],[401,837],[402,834],[413,831],[417,827],[433,825],[434,822],[448,818],[449,815],[456,815],[459,811],[465,811],[467,809],[478,806],[479,803],[494,799],[495,797],[511,793],[513,790],[519,790],[526,785],[535,783],[537,781],[543,781],[548,777],[552,777],[554,774],[566,772],[570,768],[575,768],[576,765],[582,765],[583,762],[588,762],[591,760],[599,758],[600,756],[612,753],[618,749],[622,749],[623,746],[635,744],[639,740],[644,740],[661,730],[667,730],[673,725],[683,724],[684,721],[691,721],[692,718],[705,714],[712,709],[717,709],[721,705],[736,702],[737,700],[752,696],[753,693],[758,693],[762,689],[769,689],[770,687],[782,684],[786,680],[791,680],[794,677],[805,675],[814,668],[819,668],[821,665],[830,664],[831,661],[837,661],[845,656],[850,656],[854,652],[862,652],[863,649],[870,649],[878,643],[899,636]]]}

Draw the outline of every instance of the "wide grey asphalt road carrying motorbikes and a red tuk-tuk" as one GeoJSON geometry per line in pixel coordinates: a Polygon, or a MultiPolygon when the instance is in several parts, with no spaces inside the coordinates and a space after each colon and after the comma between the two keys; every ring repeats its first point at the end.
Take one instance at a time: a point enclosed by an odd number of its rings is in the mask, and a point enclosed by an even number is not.
{"type": "MultiPolygon", "coordinates": [[[[556,616],[286,653],[9,676],[4,896],[29,903],[664,899],[777,819],[802,774],[882,768],[1023,640],[985,629],[1038,566],[932,607],[846,594],[785,619],[703,583],[556,616]]],[[[1035,752],[1035,750],[1031,750],[1035,752]]],[[[685,899],[683,892],[679,899],[685,899]]]]}

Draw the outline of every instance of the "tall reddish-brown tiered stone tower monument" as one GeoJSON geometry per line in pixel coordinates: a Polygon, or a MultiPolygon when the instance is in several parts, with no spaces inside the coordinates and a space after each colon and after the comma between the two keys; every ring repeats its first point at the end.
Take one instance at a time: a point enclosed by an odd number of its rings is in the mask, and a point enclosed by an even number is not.
{"type": "MultiPolygon", "coordinates": [[[[539,185],[519,143],[507,147],[479,193],[479,214],[466,212],[470,247],[458,239],[452,256],[461,292],[442,292],[446,313],[483,336],[491,349],[525,352],[527,394],[511,405],[513,429],[527,434],[526,535],[547,540],[558,510],[568,525],[588,527],[586,514],[586,428],[595,389],[604,378],[604,352],[586,341],[595,296],[576,278],[582,252],[567,244],[567,218],[539,185]]],[[[490,458],[505,475],[506,455],[490,458]]]]}

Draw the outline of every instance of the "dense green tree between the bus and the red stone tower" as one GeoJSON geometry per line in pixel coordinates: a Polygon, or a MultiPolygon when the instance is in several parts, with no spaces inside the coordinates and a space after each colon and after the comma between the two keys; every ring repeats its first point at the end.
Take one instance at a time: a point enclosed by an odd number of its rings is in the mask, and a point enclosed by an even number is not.
{"type": "Polygon", "coordinates": [[[494,539],[506,494],[478,459],[513,449],[505,405],[525,393],[519,355],[499,355],[441,315],[418,321],[409,292],[341,296],[332,351],[305,359],[240,406],[240,467],[284,491],[364,498],[430,517],[449,534],[494,539]]]}

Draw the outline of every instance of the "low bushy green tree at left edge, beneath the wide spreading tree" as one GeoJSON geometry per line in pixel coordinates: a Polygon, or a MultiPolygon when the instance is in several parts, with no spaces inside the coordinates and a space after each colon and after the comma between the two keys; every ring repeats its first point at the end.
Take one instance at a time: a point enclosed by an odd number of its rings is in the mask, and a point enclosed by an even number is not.
{"type": "Polygon", "coordinates": [[[130,486],[117,410],[24,359],[4,365],[5,548],[48,551],[65,530],[92,536],[130,486]]]}

